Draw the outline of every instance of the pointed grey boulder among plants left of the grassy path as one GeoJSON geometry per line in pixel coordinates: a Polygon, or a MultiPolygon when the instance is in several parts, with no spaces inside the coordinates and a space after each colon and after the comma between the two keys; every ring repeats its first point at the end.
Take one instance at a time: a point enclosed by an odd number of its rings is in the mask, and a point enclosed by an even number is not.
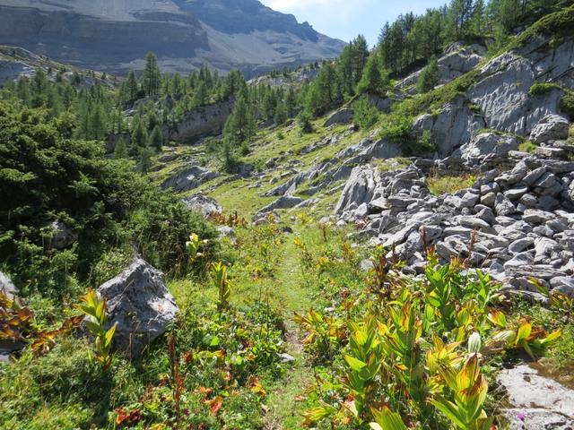
{"type": "Polygon", "coordinates": [[[141,258],[101,285],[98,293],[108,300],[109,327],[117,323],[112,347],[132,358],[167,331],[178,314],[163,273],[141,258]]]}

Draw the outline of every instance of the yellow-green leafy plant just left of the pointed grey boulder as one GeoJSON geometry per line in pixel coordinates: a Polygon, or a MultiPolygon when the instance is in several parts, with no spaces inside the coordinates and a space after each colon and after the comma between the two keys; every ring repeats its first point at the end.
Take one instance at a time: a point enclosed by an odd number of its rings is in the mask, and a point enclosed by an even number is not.
{"type": "Polygon", "coordinates": [[[106,329],[108,316],[106,314],[106,299],[93,288],[82,297],[83,304],[77,305],[77,309],[85,315],[84,323],[88,331],[94,337],[95,359],[100,362],[104,369],[111,365],[111,342],[116,332],[117,323],[106,329]]]}

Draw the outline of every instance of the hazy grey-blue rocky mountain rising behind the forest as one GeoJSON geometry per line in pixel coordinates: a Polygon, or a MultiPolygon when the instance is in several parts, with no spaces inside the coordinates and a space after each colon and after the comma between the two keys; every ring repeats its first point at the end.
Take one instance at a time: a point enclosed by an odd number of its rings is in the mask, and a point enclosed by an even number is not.
{"type": "Polygon", "coordinates": [[[206,63],[255,75],[344,47],[257,0],[0,0],[0,20],[3,45],[110,73],[153,51],[166,71],[206,63]]]}

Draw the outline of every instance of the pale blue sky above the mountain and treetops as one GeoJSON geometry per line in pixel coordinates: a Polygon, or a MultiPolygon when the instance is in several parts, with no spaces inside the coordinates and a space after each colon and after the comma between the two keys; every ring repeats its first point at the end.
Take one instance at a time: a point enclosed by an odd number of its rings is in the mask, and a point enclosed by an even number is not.
{"type": "Polygon", "coordinates": [[[370,45],[378,39],[383,24],[399,13],[423,13],[448,0],[260,0],[283,13],[292,13],[299,22],[309,22],[315,30],[332,38],[349,41],[363,34],[370,45]]]}

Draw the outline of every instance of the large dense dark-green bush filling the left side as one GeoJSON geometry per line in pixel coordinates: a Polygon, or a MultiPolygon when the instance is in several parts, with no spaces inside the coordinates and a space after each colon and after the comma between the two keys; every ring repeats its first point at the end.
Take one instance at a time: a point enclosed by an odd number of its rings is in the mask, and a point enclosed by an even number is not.
{"type": "Polygon", "coordinates": [[[64,298],[78,291],[102,255],[139,247],[163,271],[187,267],[185,242],[192,231],[216,241],[213,228],[170,193],[135,174],[126,159],[106,159],[97,142],[66,139],[65,119],[42,109],[0,102],[0,264],[24,296],[35,291],[64,298]],[[77,234],[56,249],[58,220],[77,234]]]}

